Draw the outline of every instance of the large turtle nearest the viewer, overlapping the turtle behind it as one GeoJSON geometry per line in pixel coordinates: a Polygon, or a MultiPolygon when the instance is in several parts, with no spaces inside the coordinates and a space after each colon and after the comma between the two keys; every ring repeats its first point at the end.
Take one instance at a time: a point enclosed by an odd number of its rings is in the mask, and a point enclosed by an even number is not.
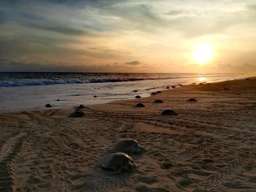
{"type": "Polygon", "coordinates": [[[123,170],[132,172],[137,165],[133,159],[125,153],[112,153],[105,157],[101,165],[105,169],[114,170],[114,174],[121,174],[123,170]]]}

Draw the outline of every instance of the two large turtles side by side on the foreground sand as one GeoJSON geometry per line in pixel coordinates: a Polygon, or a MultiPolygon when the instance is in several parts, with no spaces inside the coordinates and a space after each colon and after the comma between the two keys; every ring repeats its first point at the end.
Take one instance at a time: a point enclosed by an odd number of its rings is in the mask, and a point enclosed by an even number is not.
{"type": "Polygon", "coordinates": [[[145,147],[139,145],[134,139],[122,139],[114,143],[113,151],[116,153],[106,156],[101,166],[104,169],[113,170],[114,174],[121,174],[123,170],[132,172],[137,167],[127,153],[131,155],[134,153],[143,153],[145,147]]]}

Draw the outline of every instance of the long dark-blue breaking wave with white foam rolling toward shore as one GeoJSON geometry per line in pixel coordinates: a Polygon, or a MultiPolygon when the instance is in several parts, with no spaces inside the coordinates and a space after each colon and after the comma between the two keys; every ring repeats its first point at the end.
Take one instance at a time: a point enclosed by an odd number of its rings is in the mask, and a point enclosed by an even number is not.
{"type": "Polygon", "coordinates": [[[0,87],[17,87],[17,86],[35,86],[35,85],[55,85],[55,84],[86,84],[86,83],[103,83],[103,82],[126,82],[126,81],[143,81],[143,80],[165,80],[178,79],[177,77],[159,77],[159,78],[113,78],[113,79],[73,79],[73,80],[21,80],[21,81],[0,81],[0,87]]]}

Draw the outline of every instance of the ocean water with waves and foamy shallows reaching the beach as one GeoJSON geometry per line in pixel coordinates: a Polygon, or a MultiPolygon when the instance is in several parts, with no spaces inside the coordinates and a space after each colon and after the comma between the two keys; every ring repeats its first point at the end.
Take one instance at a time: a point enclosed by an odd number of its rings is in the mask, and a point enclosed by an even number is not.
{"type": "Polygon", "coordinates": [[[68,108],[132,99],[136,95],[252,74],[196,73],[0,73],[0,113],[68,108]],[[138,90],[138,92],[134,92],[138,90]],[[94,97],[94,96],[97,97],[94,97]],[[60,100],[60,101],[57,101],[60,100]]]}

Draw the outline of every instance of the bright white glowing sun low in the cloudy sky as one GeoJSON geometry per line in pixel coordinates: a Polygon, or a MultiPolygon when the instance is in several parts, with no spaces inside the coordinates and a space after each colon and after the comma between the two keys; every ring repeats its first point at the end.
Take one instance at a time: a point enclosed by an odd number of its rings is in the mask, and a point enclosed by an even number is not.
{"type": "Polygon", "coordinates": [[[206,64],[212,58],[212,46],[207,43],[201,43],[194,46],[193,59],[198,64],[206,64]]]}

